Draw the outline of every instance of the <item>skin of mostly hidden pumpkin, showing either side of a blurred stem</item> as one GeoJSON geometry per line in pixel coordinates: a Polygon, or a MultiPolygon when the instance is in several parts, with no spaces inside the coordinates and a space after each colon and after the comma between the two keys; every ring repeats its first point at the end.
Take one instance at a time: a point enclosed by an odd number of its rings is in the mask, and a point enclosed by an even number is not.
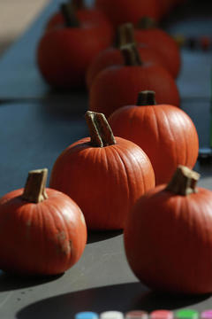
{"type": "MultiPolygon", "coordinates": [[[[151,62],[159,64],[165,67],[165,63],[160,54],[151,50],[146,45],[140,45],[138,47],[140,52],[140,57],[144,62],[151,62]]],[[[115,48],[109,48],[104,51],[101,51],[91,62],[90,66],[87,68],[87,88],[89,89],[92,85],[92,82],[95,79],[95,76],[99,74],[103,69],[109,66],[116,66],[125,64],[124,58],[121,54],[121,51],[115,48]]]]}

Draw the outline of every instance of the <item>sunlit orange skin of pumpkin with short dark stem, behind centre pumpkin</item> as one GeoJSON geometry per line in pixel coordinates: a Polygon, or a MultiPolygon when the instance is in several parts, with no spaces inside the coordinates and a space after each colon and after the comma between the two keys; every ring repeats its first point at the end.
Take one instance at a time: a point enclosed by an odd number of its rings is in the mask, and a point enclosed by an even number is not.
{"type": "Polygon", "coordinates": [[[190,117],[172,105],[128,105],[109,118],[116,136],[138,144],[147,153],[155,184],[168,183],[178,165],[193,168],[199,139],[190,117]]]}

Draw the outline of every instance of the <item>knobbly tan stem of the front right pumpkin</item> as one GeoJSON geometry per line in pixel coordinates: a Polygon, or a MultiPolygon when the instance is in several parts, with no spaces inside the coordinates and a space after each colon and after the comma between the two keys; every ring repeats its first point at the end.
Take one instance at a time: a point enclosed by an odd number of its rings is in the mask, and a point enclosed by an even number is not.
{"type": "Polygon", "coordinates": [[[200,176],[192,169],[179,165],[165,191],[171,191],[183,196],[197,192],[196,184],[200,176]]]}

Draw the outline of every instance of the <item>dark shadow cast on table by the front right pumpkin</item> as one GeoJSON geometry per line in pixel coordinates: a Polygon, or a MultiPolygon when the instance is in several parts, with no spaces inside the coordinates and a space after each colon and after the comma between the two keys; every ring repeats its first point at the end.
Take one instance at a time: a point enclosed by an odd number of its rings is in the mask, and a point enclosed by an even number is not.
{"type": "Polygon", "coordinates": [[[143,309],[148,312],[154,309],[174,310],[189,307],[207,300],[210,296],[170,296],[150,292],[140,283],[116,284],[80,292],[65,293],[60,296],[41,300],[21,309],[18,319],[70,319],[79,311],[92,310],[97,313],[107,310],[126,312],[132,309],[143,309]]]}

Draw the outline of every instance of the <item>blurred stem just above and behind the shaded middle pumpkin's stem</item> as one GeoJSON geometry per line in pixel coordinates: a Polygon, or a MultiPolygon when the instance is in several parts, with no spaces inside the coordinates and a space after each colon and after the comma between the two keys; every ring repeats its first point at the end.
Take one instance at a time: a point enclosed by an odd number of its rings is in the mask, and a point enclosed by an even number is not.
{"type": "Polygon", "coordinates": [[[117,27],[117,48],[120,49],[127,43],[135,43],[132,23],[125,23],[117,27]]]}

